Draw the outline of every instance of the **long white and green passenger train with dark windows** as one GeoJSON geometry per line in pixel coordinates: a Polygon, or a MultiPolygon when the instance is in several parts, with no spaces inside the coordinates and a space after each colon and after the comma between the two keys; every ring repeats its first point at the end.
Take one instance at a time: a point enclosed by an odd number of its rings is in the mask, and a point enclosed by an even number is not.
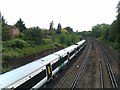
{"type": "Polygon", "coordinates": [[[82,52],[86,40],[0,75],[0,89],[40,88],[82,52]]]}

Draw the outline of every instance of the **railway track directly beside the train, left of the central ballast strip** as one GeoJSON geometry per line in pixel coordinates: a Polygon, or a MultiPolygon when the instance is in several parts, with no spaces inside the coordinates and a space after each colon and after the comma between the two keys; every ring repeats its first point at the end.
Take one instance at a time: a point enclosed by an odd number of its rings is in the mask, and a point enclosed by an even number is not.
{"type": "Polygon", "coordinates": [[[91,51],[91,44],[89,41],[88,41],[88,45],[89,46],[87,46],[83,52],[84,54],[82,54],[81,57],[78,58],[79,60],[76,60],[76,62],[72,65],[70,70],[64,75],[63,79],[61,79],[60,82],[56,86],[54,86],[54,88],[72,88],[72,87],[74,88],[74,85],[77,82],[77,79],[79,78],[80,75],[82,75],[82,72],[85,69],[86,62],[87,62],[89,53],[91,51]],[[88,50],[89,50],[89,52],[88,52],[88,50]],[[84,61],[82,61],[82,60],[84,60],[84,61]],[[73,75],[71,73],[75,73],[75,74],[73,75]],[[73,78],[71,78],[71,77],[73,77],[73,78]],[[76,78],[74,78],[74,77],[76,77],[76,78]],[[65,83],[68,84],[67,87],[66,87],[65,83]]]}

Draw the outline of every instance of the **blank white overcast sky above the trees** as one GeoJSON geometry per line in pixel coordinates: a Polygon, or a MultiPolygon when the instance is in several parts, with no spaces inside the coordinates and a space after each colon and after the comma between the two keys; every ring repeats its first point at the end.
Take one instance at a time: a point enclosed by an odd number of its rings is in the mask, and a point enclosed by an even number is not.
{"type": "Polygon", "coordinates": [[[96,24],[111,24],[117,16],[119,0],[0,0],[0,11],[9,25],[21,18],[26,27],[70,26],[88,31],[96,24]]]}

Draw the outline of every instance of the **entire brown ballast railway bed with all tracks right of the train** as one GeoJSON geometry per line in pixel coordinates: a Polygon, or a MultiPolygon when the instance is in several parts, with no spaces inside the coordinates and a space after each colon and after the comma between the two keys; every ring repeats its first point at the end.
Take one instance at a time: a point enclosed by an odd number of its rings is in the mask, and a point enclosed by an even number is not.
{"type": "Polygon", "coordinates": [[[111,55],[100,42],[88,39],[84,52],[52,88],[118,88],[118,59],[111,55]]]}

